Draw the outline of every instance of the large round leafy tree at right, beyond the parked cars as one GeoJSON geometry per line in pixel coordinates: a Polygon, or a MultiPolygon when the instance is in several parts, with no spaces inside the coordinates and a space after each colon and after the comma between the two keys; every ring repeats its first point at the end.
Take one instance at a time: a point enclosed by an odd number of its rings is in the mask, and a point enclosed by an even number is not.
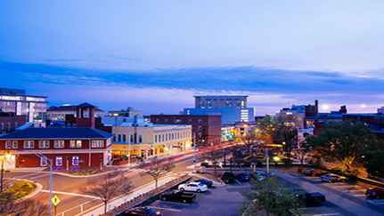
{"type": "Polygon", "coordinates": [[[347,170],[369,140],[372,140],[370,128],[362,123],[330,124],[318,136],[306,138],[316,155],[328,162],[338,161],[347,170]]]}

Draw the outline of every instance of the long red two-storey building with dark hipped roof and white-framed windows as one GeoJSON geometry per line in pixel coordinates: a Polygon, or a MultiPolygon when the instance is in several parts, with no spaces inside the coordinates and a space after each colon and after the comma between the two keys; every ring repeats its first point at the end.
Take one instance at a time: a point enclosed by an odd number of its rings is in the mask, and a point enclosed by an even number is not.
{"type": "Polygon", "coordinates": [[[57,168],[100,166],[110,164],[112,137],[88,127],[27,128],[0,136],[0,148],[11,155],[4,163],[8,168],[47,166],[29,150],[52,159],[57,168]]]}

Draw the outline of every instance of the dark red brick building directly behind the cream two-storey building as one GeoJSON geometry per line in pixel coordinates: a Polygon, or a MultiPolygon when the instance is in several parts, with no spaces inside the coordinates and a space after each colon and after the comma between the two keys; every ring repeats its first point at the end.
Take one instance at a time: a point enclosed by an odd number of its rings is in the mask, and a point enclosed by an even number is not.
{"type": "Polygon", "coordinates": [[[196,145],[211,146],[221,143],[220,115],[151,115],[152,124],[191,124],[196,134],[196,145]]]}

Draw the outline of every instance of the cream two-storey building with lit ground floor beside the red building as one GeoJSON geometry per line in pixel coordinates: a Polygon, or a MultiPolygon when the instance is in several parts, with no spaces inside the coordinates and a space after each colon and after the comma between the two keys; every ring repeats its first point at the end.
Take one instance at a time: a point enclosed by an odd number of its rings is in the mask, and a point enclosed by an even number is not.
{"type": "Polygon", "coordinates": [[[192,148],[191,125],[122,124],[112,126],[113,155],[151,156],[172,155],[192,148]]]}

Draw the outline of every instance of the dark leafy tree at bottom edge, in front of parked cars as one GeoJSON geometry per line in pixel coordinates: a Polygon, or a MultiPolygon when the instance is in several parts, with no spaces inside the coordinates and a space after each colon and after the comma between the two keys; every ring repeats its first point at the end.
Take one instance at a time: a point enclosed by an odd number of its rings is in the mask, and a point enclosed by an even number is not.
{"type": "Polygon", "coordinates": [[[240,215],[291,215],[305,206],[292,189],[287,189],[276,178],[251,180],[250,184],[250,191],[242,195],[240,215]]]}

